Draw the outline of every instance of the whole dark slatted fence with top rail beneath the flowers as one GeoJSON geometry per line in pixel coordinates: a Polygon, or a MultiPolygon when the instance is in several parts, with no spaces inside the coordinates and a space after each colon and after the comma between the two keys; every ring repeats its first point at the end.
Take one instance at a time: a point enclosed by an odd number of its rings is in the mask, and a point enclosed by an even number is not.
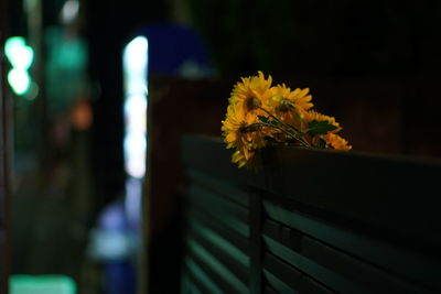
{"type": "Polygon", "coordinates": [[[249,173],[216,140],[184,142],[184,293],[441,292],[431,224],[441,222],[433,214],[440,164],[277,149],[263,171],[249,173]],[[335,178],[353,181],[315,183],[311,175],[330,165],[335,178]],[[417,173],[418,184],[401,181],[417,173]],[[418,197],[400,200],[418,185],[418,197]]]}

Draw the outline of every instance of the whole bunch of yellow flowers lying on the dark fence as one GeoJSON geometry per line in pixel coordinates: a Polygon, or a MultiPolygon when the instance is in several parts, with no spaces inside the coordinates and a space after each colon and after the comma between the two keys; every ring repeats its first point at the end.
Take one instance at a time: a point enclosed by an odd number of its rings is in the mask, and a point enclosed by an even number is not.
{"type": "Polygon", "coordinates": [[[269,144],[349,150],[337,134],[334,118],[312,110],[309,89],[291,90],[284,84],[271,86],[272,78],[244,77],[229,97],[222,131],[227,149],[236,149],[232,161],[239,167],[250,165],[258,150],[269,144]]]}

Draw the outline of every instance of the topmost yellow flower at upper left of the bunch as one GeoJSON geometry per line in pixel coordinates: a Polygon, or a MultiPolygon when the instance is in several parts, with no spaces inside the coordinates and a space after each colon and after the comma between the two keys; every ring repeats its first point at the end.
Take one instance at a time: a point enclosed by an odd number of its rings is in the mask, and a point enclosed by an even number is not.
{"type": "Polygon", "coordinates": [[[243,77],[232,91],[229,104],[237,105],[243,111],[258,111],[259,107],[265,107],[272,97],[271,76],[265,79],[262,72],[258,72],[258,76],[243,77]]]}

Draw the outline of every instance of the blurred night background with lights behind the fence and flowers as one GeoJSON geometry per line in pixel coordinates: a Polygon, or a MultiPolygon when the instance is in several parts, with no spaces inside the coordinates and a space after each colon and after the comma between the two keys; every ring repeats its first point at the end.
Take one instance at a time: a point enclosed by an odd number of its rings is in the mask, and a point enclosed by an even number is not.
{"type": "Polygon", "coordinates": [[[354,151],[441,155],[438,0],[3,0],[0,19],[11,290],[178,292],[179,138],[220,135],[257,70],[309,87],[354,151]]]}

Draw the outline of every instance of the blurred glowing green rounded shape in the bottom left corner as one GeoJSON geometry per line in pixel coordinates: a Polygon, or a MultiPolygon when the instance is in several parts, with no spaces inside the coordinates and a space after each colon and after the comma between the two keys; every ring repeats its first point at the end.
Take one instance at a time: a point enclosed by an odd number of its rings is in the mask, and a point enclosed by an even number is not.
{"type": "Polygon", "coordinates": [[[76,294],[76,283],[67,275],[11,275],[9,294],[76,294]]]}

